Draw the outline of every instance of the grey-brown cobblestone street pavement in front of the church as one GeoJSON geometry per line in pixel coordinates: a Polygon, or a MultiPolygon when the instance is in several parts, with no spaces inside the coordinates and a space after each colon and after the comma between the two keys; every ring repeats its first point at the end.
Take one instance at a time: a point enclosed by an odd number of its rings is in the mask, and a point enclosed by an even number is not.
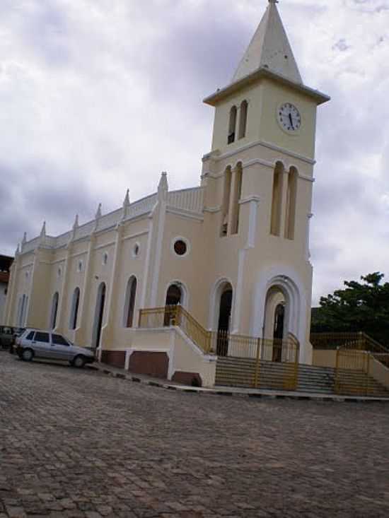
{"type": "Polygon", "coordinates": [[[0,518],[389,516],[389,404],[148,387],[0,352],[0,518]]]}

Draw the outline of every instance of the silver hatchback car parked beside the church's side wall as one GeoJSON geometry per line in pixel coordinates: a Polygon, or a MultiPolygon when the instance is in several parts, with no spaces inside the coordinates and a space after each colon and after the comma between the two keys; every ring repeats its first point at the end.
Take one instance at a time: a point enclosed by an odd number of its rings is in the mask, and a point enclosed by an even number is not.
{"type": "Polygon", "coordinates": [[[67,360],[74,367],[83,367],[86,363],[95,361],[93,351],[74,346],[62,334],[37,329],[25,329],[16,339],[16,353],[25,361],[34,358],[67,360]]]}

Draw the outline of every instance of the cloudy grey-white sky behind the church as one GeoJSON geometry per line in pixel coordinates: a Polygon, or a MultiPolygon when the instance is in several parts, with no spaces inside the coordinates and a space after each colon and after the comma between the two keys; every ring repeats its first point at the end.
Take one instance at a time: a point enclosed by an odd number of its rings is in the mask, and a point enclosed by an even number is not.
{"type": "MultiPolygon", "coordinates": [[[[0,253],[199,181],[213,112],[267,0],[1,0],[0,253]],[[185,164],[185,165],[183,165],[185,164]]],[[[389,277],[389,0],[281,0],[318,117],[315,300],[389,277]]]]}

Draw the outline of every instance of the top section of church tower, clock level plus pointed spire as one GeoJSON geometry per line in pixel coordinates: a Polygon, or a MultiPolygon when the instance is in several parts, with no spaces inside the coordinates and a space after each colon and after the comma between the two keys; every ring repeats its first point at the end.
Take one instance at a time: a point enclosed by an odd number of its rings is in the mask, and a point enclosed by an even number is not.
{"type": "Polygon", "coordinates": [[[304,86],[277,3],[269,0],[231,83],[204,100],[216,108],[212,151],[263,141],[314,158],[316,108],[329,98],[304,86]]]}

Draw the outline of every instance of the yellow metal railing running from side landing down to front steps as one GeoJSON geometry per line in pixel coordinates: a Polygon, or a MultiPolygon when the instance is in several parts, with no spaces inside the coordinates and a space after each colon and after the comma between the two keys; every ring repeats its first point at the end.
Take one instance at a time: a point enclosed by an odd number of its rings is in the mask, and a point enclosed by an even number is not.
{"type": "Polygon", "coordinates": [[[139,311],[140,328],[159,329],[166,326],[180,327],[205,354],[252,360],[255,365],[252,386],[255,388],[261,386],[262,377],[269,378],[272,388],[294,390],[298,385],[300,344],[293,334],[289,334],[286,340],[271,340],[223,330],[207,331],[179,305],[139,311]],[[272,372],[268,367],[270,363],[274,363],[272,372]]]}

